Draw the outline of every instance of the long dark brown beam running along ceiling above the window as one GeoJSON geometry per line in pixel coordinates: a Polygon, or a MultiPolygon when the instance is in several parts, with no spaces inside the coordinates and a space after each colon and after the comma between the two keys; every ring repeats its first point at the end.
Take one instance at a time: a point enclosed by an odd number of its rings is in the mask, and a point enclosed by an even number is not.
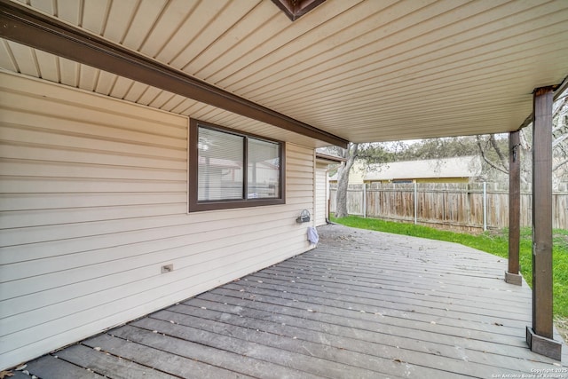
{"type": "Polygon", "coordinates": [[[219,107],[235,114],[266,122],[284,130],[347,147],[346,139],[260,106],[231,92],[186,75],[182,71],[130,51],[119,44],[91,35],[80,28],[32,11],[28,7],[0,0],[0,36],[51,52],[115,75],[152,85],[219,107]]]}

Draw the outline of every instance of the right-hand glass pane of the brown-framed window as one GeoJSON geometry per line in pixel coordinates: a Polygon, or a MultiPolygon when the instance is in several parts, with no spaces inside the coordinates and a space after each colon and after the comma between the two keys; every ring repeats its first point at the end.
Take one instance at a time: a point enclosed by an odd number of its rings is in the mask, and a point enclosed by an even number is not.
{"type": "Polygon", "coordinates": [[[280,145],[248,138],[248,199],[280,197],[280,145]]]}

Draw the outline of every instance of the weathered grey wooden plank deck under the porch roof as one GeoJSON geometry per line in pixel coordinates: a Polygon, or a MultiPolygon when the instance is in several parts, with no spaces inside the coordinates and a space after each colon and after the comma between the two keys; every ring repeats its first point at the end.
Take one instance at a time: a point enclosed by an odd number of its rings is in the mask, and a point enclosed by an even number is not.
{"type": "Polygon", "coordinates": [[[504,259],[340,225],[319,233],[318,249],[25,370],[42,379],[568,377],[565,345],[564,366],[528,350],[531,291],[502,280],[504,259]]]}

